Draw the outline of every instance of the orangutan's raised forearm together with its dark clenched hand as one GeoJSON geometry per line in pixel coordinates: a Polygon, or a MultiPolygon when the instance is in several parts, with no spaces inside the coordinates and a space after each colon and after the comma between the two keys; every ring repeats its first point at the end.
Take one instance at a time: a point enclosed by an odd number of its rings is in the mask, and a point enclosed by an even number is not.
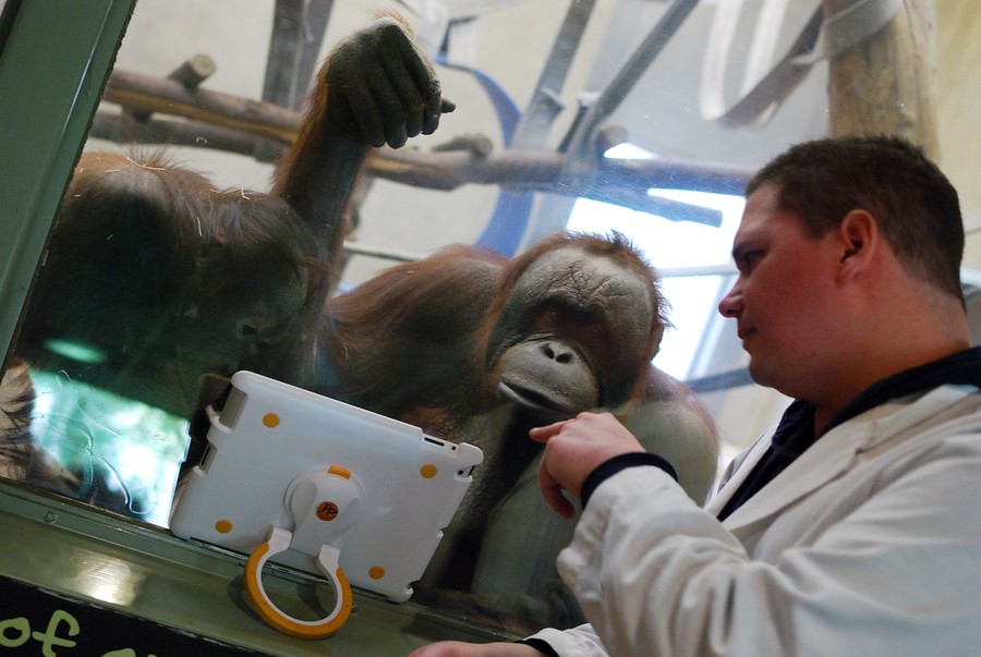
{"type": "Polygon", "coordinates": [[[378,19],[327,57],[272,193],[310,223],[330,257],[343,240],[343,212],[372,148],[398,148],[431,134],[452,109],[408,27],[392,16],[378,19]]]}

